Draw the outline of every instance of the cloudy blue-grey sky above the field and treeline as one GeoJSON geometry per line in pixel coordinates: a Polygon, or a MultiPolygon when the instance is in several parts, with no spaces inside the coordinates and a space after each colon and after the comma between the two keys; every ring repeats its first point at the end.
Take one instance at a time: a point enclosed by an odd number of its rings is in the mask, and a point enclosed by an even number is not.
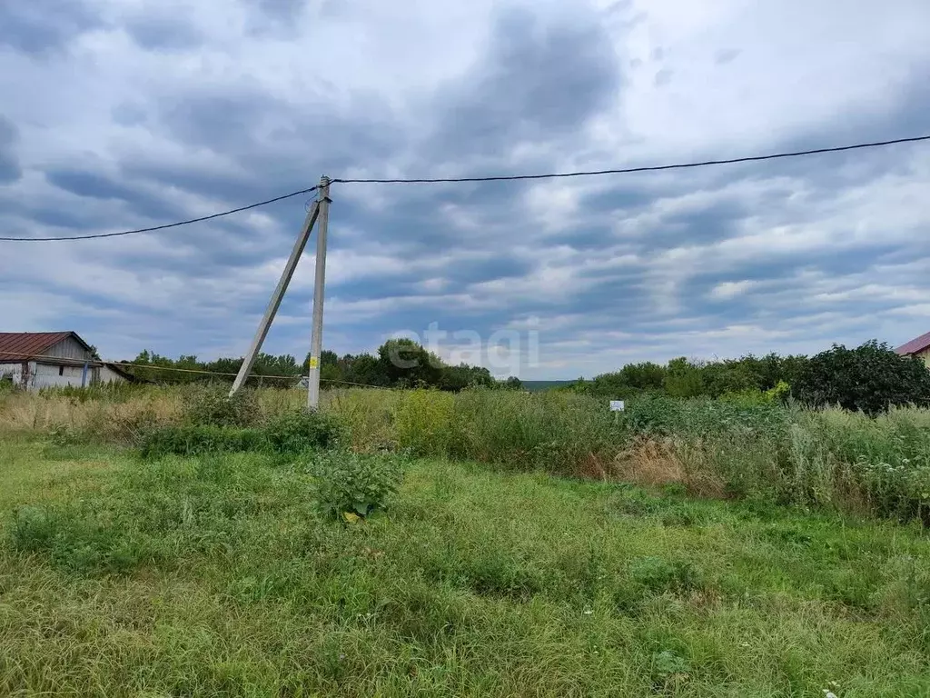
{"type": "MultiPolygon", "coordinates": [[[[0,3],[0,235],[341,179],[627,168],[930,133],[925,0],[0,3]]],[[[930,331],[930,142],[659,173],[334,183],[324,345],[525,380],[930,331]]],[[[242,356],[311,195],[0,242],[0,331],[242,356]]],[[[264,350],[310,345],[312,238],[264,350]]]]}

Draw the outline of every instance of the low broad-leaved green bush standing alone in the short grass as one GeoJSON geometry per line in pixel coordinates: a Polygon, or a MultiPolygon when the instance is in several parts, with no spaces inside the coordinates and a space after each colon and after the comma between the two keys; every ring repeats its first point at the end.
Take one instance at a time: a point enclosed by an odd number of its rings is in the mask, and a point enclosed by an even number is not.
{"type": "Polygon", "coordinates": [[[316,505],[326,517],[368,517],[387,508],[404,478],[393,454],[319,453],[310,463],[316,505]]]}

